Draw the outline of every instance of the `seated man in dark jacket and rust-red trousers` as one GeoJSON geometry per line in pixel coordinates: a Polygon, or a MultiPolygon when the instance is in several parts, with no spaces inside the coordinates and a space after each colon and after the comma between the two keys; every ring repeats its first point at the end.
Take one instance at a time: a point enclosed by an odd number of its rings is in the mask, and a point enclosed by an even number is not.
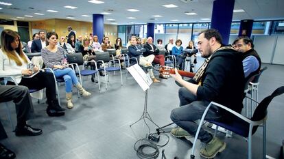
{"type": "MultiPolygon", "coordinates": [[[[143,56],[155,55],[153,62],[160,64],[160,66],[165,66],[165,56],[159,55],[160,50],[153,44],[152,37],[147,38],[147,43],[143,47],[146,49],[143,56]]],[[[163,74],[160,74],[160,78],[167,79],[163,74]]]]}

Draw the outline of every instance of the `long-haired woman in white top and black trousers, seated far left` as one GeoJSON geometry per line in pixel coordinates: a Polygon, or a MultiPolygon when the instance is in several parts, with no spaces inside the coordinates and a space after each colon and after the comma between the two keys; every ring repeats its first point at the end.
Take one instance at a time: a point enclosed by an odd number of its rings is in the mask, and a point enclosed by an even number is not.
{"type": "Polygon", "coordinates": [[[34,66],[21,50],[19,34],[10,29],[3,30],[1,45],[3,48],[0,50],[0,75],[13,76],[18,85],[24,85],[29,89],[46,88],[47,115],[64,115],[64,109],[56,99],[54,75],[51,72],[38,72],[38,66],[34,66]]]}

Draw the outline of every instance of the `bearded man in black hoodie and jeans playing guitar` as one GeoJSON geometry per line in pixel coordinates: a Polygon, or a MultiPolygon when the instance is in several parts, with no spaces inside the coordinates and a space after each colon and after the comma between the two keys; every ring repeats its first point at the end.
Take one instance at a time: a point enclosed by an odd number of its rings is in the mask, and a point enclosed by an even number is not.
{"type": "MultiPolygon", "coordinates": [[[[238,113],[243,108],[244,69],[241,53],[230,47],[222,47],[221,35],[215,29],[207,29],[198,35],[198,49],[206,60],[191,81],[184,81],[177,70],[176,74],[171,74],[183,86],[178,92],[180,107],[171,111],[171,120],[180,127],[171,130],[176,137],[189,138],[196,134],[196,120],[201,119],[211,101],[238,113]]],[[[205,119],[230,121],[232,117],[223,109],[211,106],[205,119]]],[[[226,148],[226,143],[203,129],[198,139],[204,143],[200,149],[200,156],[204,158],[214,158],[226,148]]]]}

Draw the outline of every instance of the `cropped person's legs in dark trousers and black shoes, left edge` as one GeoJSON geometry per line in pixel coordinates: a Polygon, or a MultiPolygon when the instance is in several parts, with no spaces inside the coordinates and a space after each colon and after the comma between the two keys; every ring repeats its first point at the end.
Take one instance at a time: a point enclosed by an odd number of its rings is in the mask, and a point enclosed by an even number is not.
{"type": "MultiPolygon", "coordinates": [[[[17,126],[14,130],[16,136],[36,136],[43,133],[42,130],[27,125],[29,112],[32,109],[32,100],[29,89],[18,85],[0,85],[0,102],[13,100],[16,104],[17,126]]],[[[0,139],[7,138],[7,134],[0,122],[0,139]]],[[[0,158],[15,158],[16,155],[10,149],[0,144],[0,158]]]]}

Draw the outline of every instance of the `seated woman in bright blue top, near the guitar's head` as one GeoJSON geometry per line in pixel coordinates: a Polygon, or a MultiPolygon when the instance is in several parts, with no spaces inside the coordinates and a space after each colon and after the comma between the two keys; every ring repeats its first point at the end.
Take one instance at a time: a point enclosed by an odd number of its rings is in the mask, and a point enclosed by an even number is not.
{"type": "Polygon", "coordinates": [[[172,54],[176,56],[176,67],[178,68],[178,70],[182,70],[182,63],[184,63],[185,61],[185,55],[182,54],[183,47],[181,46],[181,44],[181,40],[176,40],[176,46],[174,46],[172,49],[172,54]]]}

